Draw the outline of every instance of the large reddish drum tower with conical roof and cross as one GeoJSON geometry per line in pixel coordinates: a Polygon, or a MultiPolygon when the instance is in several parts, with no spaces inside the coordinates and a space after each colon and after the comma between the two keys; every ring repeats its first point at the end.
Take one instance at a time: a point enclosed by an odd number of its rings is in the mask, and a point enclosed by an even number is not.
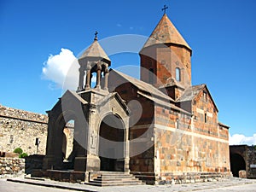
{"type": "MultiPolygon", "coordinates": [[[[192,49],[165,14],[140,51],[141,80],[157,88],[191,85],[192,49]]],[[[176,96],[175,96],[176,97],[176,96]]]]}

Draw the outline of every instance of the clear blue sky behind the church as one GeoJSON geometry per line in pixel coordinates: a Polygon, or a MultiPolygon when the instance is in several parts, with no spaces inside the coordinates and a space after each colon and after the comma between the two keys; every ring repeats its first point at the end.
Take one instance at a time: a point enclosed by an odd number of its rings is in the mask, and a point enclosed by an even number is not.
{"type": "MultiPolygon", "coordinates": [[[[207,84],[230,134],[256,133],[256,1],[0,0],[0,103],[45,113],[61,96],[44,79],[49,55],[74,55],[94,38],[149,36],[166,13],[193,49],[193,84],[207,84]]],[[[137,54],[112,56],[113,67],[139,64],[137,54]]]]}

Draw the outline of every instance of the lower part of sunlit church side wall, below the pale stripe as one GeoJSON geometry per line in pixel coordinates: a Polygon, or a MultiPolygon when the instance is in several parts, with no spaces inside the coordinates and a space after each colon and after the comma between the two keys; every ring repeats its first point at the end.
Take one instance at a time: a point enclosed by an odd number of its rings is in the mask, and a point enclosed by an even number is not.
{"type": "Polygon", "coordinates": [[[155,151],[160,154],[160,172],[229,172],[226,144],[186,131],[157,129],[155,151]]]}

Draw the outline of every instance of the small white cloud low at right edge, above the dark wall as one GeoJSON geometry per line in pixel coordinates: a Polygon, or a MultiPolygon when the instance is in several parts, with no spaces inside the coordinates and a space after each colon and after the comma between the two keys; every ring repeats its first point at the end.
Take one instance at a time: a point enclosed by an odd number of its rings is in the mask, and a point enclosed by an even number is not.
{"type": "Polygon", "coordinates": [[[253,134],[253,137],[246,137],[241,134],[230,136],[230,145],[240,144],[256,145],[256,134],[253,134]]]}

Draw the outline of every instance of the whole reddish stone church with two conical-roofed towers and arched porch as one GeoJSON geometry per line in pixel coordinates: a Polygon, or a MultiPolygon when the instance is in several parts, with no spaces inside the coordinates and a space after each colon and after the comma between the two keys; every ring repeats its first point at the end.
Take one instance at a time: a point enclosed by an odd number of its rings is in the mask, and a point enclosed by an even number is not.
{"type": "Polygon", "coordinates": [[[207,85],[191,84],[192,49],[166,14],[139,55],[140,79],[110,69],[97,37],[79,57],[78,90],[48,111],[46,176],[90,183],[124,172],[155,184],[230,175],[229,126],[207,85]]]}

